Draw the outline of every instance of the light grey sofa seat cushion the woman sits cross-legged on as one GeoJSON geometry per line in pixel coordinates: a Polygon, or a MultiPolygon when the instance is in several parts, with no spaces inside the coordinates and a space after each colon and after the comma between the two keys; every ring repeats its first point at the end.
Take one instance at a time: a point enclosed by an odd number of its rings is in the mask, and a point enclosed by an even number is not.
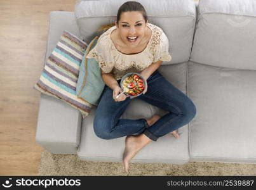
{"type": "MultiPolygon", "coordinates": [[[[180,91],[186,94],[186,63],[163,65],[159,72],[180,91]]],[[[122,162],[125,150],[125,137],[111,140],[100,139],[93,130],[93,118],[96,106],[91,109],[90,115],[83,120],[81,143],[77,155],[81,160],[98,162],[122,162]]],[[[155,113],[165,115],[166,111],[149,105],[140,99],[133,99],[121,118],[149,118],[155,113]]],[[[180,138],[175,139],[166,134],[145,146],[135,155],[131,162],[148,163],[186,163],[189,160],[188,126],[179,129],[180,138]]]]}

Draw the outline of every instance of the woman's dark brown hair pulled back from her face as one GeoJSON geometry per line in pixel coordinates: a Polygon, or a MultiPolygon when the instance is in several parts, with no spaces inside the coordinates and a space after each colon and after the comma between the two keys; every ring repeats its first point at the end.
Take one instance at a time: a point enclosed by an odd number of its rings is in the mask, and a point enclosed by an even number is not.
{"type": "MultiPolygon", "coordinates": [[[[124,4],[122,4],[118,9],[116,22],[119,22],[122,13],[129,11],[140,11],[140,13],[142,13],[142,16],[144,17],[145,22],[147,22],[147,12],[145,11],[144,6],[142,6],[142,4],[138,3],[137,1],[126,1],[124,4]]],[[[112,25],[104,25],[98,28],[98,31],[107,30],[114,25],[114,23],[112,23],[112,25]]]]}

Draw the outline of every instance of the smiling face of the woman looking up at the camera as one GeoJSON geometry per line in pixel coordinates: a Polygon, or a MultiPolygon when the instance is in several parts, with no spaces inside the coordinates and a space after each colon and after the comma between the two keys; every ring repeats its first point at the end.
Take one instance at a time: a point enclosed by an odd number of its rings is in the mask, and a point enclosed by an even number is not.
{"type": "Polygon", "coordinates": [[[128,11],[121,13],[116,27],[122,41],[129,47],[136,47],[145,37],[147,22],[139,11],[128,11]]]}

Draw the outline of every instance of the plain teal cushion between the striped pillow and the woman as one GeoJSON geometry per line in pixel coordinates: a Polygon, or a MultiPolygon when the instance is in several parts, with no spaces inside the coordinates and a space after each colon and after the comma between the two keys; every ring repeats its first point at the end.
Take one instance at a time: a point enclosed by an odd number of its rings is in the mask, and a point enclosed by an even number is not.
{"type": "Polygon", "coordinates": [[[89,51],[97,44],[98,36],[88,45],[79,70],[76,94],[77,97],[97,106],[104,90],[105,82],[102,80],[98,62],[93,58],[86,58],[89,51]]]}

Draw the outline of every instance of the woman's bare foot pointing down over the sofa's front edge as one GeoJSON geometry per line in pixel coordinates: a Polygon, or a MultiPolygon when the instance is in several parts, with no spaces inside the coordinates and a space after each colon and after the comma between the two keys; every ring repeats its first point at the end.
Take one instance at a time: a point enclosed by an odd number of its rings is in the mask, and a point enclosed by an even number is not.
{"type": "Polygon", "coordinates": [[[125,152],[123,153],[123,163],[125,165],[125,170],[128,172],[129,162],[140,149],[142,149],[146,144],[151,143],[152,140],[145,134],[139,134],[138,136],[127,136],[125,139],[125,152]]]}

